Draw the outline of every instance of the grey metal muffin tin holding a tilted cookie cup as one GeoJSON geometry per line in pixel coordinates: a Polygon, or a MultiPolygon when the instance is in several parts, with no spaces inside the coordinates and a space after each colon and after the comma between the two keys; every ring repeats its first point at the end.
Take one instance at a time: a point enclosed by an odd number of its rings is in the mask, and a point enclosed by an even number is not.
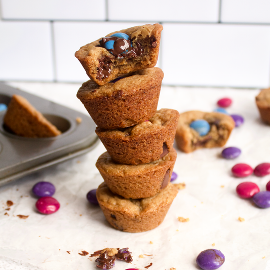
{"type": "Polygon", "coordinates": [[[87,115],[16,88],[0,84],[0,103],[9,104],[12,95],[26,98],[62,134],[50,138],[25,138],[7,131],[6,110],[0,112],[0,185],[37,170],[80,156],[98,143],[96,124],[87,115]],[[81,118],[78,123],[76,118],[81,118]]]}

